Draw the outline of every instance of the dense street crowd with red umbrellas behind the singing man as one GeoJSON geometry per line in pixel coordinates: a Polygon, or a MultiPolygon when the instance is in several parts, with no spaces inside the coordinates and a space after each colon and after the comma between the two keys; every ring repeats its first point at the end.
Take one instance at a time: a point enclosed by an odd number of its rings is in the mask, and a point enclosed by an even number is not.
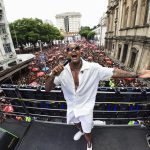
{"type": "MultiPolygon", "coordinates": [[[[124,69],[118,63],[112,61],[104,52],[100,50],[94,43],[88,41],[77,41],[80,46],[82,58],[89,62],[97,62],[105,67],[116,67],[124,69]]],[[[39,52],[35,52],[34,60],[29,64],[29,72],[23,75],[16,84],[29,84],[33,86],[45,85],[45,75],[51,72],[57,64],[63,63],[66,59],[66,45],[57,44],[51,48],[45,48],[39,52]]],[[[135,78],[115,78],[110,81],[100,81],[100,87],[147,87],[146,83],[135,78]]]]}

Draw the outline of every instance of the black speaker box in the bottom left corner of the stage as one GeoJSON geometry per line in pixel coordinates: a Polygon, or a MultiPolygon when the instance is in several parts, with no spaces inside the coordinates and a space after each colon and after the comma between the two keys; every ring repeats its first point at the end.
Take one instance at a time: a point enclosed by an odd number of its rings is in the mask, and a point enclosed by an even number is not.
{"type": "Polygon", "coordinates": [[[0,150],[14,150],[18,141],[19,138],[16,135],[0,128],[0,150]]]}

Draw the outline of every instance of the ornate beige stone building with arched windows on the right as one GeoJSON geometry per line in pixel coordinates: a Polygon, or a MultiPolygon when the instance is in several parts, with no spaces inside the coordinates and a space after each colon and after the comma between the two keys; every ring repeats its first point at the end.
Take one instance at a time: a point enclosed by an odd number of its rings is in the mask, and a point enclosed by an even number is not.
{"type": "Polygon", "coordinates": [[[105,49],[130,70],[150,69],[150,0],[108,0],[105,49]]]}

